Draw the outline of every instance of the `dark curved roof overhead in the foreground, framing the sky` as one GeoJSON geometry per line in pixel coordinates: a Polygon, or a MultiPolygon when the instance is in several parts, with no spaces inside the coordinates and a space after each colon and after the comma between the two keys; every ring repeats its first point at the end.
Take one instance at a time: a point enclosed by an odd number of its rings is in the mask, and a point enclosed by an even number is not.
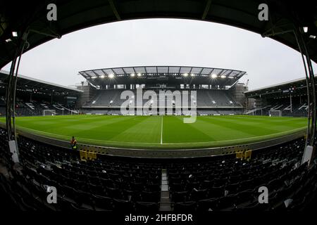
{"type": "MultiPolygon", "coordinates": [[[[57,20],[48,21],[47,5],[51,1],[7,0],[0,3],[0,68],[14,56],[17,39],[12,32],[30,28],[27,38],[30,50],[55,37],[85,27],[139,18],[183,18],[211,21],[241,27],[272,37],[296,49],[292,30],[308,27],[304,40],[311,59],[317,62],[317,1],[264,1],[268,5],[269,20],[260,21],[262,0],[55,0],[57,20]]],[[[199,35],[199,34],[197,34],[199,35]]],[[[127,37],[129,38],[129,37],[127,37]]],[[[235,38],[235,37],[232,37],[235,38]]]]}

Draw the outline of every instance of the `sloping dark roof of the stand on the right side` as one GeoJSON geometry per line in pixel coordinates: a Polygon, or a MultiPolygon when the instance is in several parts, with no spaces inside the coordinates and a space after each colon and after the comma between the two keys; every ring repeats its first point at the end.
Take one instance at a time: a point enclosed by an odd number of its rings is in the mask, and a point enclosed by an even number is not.
{"type": "MultiPolygon", "coordinates": [[[[316,79],[317,75],[315,75],[316,79]]],[[[309,83],[311,84],[311,83],[309,83]]],[[[317,86],[317,84],[315,84],[317,86]]],[[[248,98],[261,98],[261,96],[273,96],[278,94],[290,94],[295,91],[300,94],[306,94],[306,78],[293,79],[289,82],[282,82],[280,84],[273,84],[271,86],[264,86],[263,88],[253,89],[251,91],[245,91],[244,94],[248,98]]]]}

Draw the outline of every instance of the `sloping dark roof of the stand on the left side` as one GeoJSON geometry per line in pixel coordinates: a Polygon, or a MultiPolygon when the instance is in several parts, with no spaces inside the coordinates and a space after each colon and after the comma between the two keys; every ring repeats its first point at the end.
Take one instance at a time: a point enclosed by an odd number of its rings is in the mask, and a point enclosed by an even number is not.
{"type": "MultiPolygon", "coordinates": [[[[0,70],[0,82],[6,84],[8,82],[9,72],[5,70],[0,70]]],[[[32,77],[27,77],[23,75],[18,75],[17,81],[18,88],[24,87],[24,89],[38,89],[42,91],[55,91],[64,94],[80,94],[83,91],[78,89],[73,89],[68,86],[62,86],[59,84],[54,84],[51,82],[45,82],[40,79],[35,79],[32,77]]]]}

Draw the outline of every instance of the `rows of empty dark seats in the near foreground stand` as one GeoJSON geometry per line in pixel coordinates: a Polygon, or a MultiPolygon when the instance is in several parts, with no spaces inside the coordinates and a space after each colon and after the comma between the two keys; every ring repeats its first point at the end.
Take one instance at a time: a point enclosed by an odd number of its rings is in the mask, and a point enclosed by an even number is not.
{"type": "MultiPolygon", "coordinates": [[[[259,150],[248,161],[217,157],[153,163],[106,156],[91,162],[78,158],[60,162],[61,156],[70,155],[63,148],[19,138],[25,143],[19,149],[23,169],[11,168],[10,178],[0,174],[0,189],[14,193],[4,200],[21,210],[156,212],[161,200],[161,168],[167,171],[171,207],[178,212],[288,211],[306,207],[316,194],[316,165],[307,168],[297,157],[302,154],[297,146],[304,139],[259,150]],[[46,185],[56,186],[57,205],[46,203],[46,185]],[[268,186],[268,205],[257,200],[259,186],[268,186]],[[293,200],[289,207],[284,204],[287,199],[293,200]]],[[[4,139],[0,129],[0,140],[4,139]]]]}

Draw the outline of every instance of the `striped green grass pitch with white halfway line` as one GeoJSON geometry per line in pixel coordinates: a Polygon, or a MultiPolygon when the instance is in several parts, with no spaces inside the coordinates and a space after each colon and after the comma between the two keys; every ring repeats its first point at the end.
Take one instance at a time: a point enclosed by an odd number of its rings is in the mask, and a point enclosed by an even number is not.
{"type": "MultiPolygon", "coordinates": [[[[78,143],[125,148],[205,148],[250,143],[305,129],[302,117],[67,115],[17,117],[18,129],[78,143]]],[[[1,118],[1,122],[4,122],[1,118]]]]}

